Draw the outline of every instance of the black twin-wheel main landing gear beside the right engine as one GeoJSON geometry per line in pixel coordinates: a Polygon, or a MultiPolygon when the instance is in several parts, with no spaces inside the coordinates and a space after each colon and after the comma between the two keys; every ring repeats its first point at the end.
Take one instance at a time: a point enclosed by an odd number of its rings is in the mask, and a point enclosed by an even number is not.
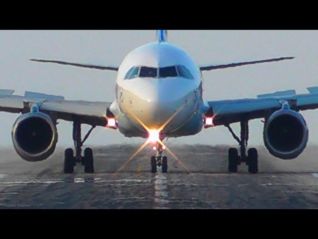
{"type": "Polygon", "coordinates": [[[229,172],[237,173],[238,166],[246,163],[248,172],[252,174],[258,173],[258,153],[256,148],[250,148],[246,155],[246,147],[248,142],[248,120],[240,122],[240,138],[235,134],[230,125],[226,125],[232,133],[233,137],[239,142],[240,156],[237,148],[229,149],[229,172]]]}

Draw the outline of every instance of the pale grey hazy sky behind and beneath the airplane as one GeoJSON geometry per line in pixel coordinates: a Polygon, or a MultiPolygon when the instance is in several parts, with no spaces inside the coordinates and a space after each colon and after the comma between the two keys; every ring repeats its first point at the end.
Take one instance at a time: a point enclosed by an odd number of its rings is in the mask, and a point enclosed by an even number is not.
{"type": "MultiPolygon", "coordinates": [[[[289,89],[306,93],[307,87],[318,86],[318,31],[169,30],[168,34],[171,43],[182,47],[201,65],[297,57],[293,61],[205,72],[205,100],[254,98],[258,94],[289,89]]],[[[36,91],[62,95],[68,100],[112,102],[115,72],[39,64],[28,59],[116,66],[131,50],[155,39],[155,30],[0,31],[0,89],[14,89],[18,95],[36,91]]],[[[12,125],[18,115],[0,114],[0,145],[9,146],[12,125]]],[[[318,144],[318,111],[303,112],[303,115],[310,128],[310,143],[318,144]]],[[[234,128],[239,133],[239,127],[234,128]]],[[[60,120],[58,131],[58,145],[72,146],[72,123],[60,120]]],[[[250,144],[263,144],[262,131],[260,120],[250,122],[250,144]]],[[[99,127],[87,144],[140,141],[99,127]]],[[[236,144],[223,126],[170,141],[236,144]]]]}

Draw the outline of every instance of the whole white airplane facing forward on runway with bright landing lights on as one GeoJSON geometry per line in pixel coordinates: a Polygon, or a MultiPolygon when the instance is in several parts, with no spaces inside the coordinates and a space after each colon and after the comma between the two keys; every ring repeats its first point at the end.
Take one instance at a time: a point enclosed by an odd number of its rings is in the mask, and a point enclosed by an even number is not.
{"type": "Polygon", "coordinates": [[[308,88],[309,93],[302,95],[288,90],[259,95],[255,99],[203,101],[204,71],[294,57],[198,66],[188,53],[168,42],[167,30],[156,32],[155,42],[130,52],[120,66],[30,59],[117,72],[116,99],[113,102],[69,101],[55,95],[26,92],[24,96],[16,96],[13,90],[0,90],[0,111],[21,114],[12,129],[17,154],[29,162],[49,158],[58,141],[59,119],[73,122],[74,149],[65,150],[66,174],[74,173],[78,163],[84,166],[85,173],[94,172],[93,151],[85,148],[82,155],[82,147],[96,126],[118,130],[126,137],[145,138],[145,143],[126,164],[150,144],[156,152],[150,160],[152,173],[158,170],[167,173],[166,153],[182,164],[163,143],[164,139],[195,135],[217,126],[226,126],[239,143],[238,148],[228,151],[228,171],[236,173],[238,166],[245,163],[249,173],[258,173],[257,149],[247,148],[248,122],[252,119],[263,119],[264,144],[273,156],[295,159],[303,152],[309,130],[300,111],[318,108],[318,87],[308,88]],[[239,136],[231,127],[233,123],[240,124],[239,136]],[[91,126],[84,137],[82,124],[91,126]]]}

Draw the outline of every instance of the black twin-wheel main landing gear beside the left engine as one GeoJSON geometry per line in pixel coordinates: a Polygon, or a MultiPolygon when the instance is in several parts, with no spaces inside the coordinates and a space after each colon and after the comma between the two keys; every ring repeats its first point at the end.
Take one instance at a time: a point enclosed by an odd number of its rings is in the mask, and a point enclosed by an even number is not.
{"type": "Polygon", "coordinates": [[[94,172],[94,158],[93,151],[91,148],[85,148],[84,156],[81,155],[82,146],[84,142],[89,137],[90,133],[96,126],[92,126],[91,129],[87,132],[83,140],[81,139],[81,123],[79,119],[75,119],[73,123],[73,140],[75,146],[75,155],[72,148],[65,150],[64,157],[64,173],[71,174],[74,173],[74,167],[77,163],[81,163],[84,166],[85,173],[94,172]]]}

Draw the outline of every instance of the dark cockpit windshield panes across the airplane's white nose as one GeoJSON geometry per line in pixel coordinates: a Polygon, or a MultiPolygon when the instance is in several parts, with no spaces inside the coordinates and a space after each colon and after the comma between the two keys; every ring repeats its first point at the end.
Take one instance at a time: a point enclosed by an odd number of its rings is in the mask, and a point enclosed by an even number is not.
{"type": "Polygon", "coordinates": [[[185,79],[193,80],[194,77],[191,74],[190,70],[185,66],[168,66],[168,67],[133,67],[131,68],[126,76],[125,80],[131,80],[134,78],[173,78],[173,77],[182,77],[185,79]]]}

